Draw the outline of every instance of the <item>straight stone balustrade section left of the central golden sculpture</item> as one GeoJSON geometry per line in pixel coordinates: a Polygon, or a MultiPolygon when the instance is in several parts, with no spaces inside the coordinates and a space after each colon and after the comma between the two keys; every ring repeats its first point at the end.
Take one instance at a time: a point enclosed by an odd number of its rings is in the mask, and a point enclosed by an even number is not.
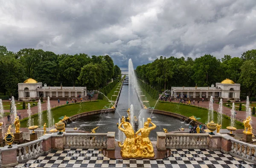
{"type": "Polygon", "coordinates": [[[107,133],[65,133],[64,148],[106,149],[107,133]]]}

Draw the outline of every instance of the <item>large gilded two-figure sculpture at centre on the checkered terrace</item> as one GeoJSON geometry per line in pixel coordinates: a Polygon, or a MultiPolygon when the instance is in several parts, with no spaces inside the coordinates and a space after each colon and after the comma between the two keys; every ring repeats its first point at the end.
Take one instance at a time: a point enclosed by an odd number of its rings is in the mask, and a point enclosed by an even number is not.
{"type": "Polygon", "coordinates": [[[154,148],[149,140],[148,136],[151,130],[155,129],[157,126],[148,121],[144,123],[144,127],[140,128],[135,134],[131,123],[125,122],[125,118],[122,117],[121,123],[118,126],[119,130],[125,133],[126,139],[123,144],[118,142],[119,147],[121,147],[121,155],[125,158],[149,158],[154,157],[154,148]],[[149,124],[153,125],[149,127],[149,124]],[[122,127],[123,126],[123,127],[122,127]],[[141,135],[138,135],[138,134],[141,135]]]}

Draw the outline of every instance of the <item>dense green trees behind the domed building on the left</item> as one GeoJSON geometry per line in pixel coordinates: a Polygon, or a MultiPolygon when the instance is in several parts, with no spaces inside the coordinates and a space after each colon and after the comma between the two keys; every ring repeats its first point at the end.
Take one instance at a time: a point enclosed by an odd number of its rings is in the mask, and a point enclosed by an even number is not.
{"type": "Polygon", "coordinates": [[[27,78],[48,86],[105,87],[121,75],[109,55],[60,54],[42,49],[20,49],[17,53],[0,46],[0,93],[17,96],[17,84],[27,78]]]}

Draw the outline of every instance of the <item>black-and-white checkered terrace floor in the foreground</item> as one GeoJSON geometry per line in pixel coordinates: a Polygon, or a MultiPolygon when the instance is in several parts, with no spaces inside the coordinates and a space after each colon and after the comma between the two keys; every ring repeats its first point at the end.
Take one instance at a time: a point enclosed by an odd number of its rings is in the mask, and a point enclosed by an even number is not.
{"type": "Polygon", "coordinates": [[[65,149],[15,167],[29,168],[256,168],[229,154],[208,149],[172,150],[164,159],[110,159],[96,149],[65,149]]]}

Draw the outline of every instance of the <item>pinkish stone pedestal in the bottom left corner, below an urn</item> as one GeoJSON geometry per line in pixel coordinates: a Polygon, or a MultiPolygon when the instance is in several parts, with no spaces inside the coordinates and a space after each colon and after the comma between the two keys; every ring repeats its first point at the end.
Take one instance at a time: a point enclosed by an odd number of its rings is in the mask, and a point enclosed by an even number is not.
{"type": "Polygon", "coordinates": [[[17,145],[12,145],[12,148],[8,148],[8,145],[4,146],[1,150],[2,166],[1,168],[15,167],[17,162],[17,145]]]}

